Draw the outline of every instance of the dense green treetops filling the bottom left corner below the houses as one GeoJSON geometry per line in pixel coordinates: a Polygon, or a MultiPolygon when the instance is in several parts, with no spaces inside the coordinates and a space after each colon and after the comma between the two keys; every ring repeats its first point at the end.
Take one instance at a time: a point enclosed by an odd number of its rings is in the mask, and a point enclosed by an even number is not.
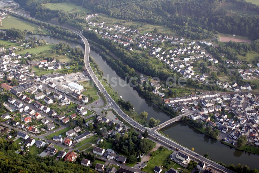
{"type": "Polygon", "coordinates": [[[18,149],[17,142],[8,143],[0,138],[0,169],[1,172],[96,172],[90,167],[84,167],[75,162],[56,161],[54,157],[40,157],[32,154],[19,155],[15,151],[18,149]]]}

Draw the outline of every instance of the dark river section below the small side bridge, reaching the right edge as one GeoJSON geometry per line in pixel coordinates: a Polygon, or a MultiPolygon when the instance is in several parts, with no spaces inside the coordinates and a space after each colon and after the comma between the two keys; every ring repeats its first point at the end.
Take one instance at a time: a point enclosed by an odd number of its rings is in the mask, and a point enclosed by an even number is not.
{"type": "Polygon", "coordinates": [[[183,122],[176,122],[163,128],[162,131],[184,147],[189,149],[193,147],[194,151],[202,156],[208,152],[209,158],[213,161],[223,162],[227,165],[241,163],[252,169],[259,169],[259,155],[236,150],[221,144],[220,141],[207,137],[183,122]]]}

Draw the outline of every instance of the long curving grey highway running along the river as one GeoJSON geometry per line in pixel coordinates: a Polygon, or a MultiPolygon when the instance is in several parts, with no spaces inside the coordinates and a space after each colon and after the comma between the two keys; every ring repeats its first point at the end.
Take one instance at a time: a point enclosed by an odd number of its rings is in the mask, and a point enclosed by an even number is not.
{"type": "MultiPolygon", "coordinates": [[[[11,13],[15,13],[17,15],[33,19],[32,17],[28,17],[26,15],[19,14],[18,12],[13,12],[13,11],[6,10],[6,9],[1,9],[1,10],[7,11],[7,12],[11,12],[11,13]]],[[[39,21],[39,20],[36,20],[36,19],[35,19],[35,21],[42,22],[42,21],[39,21]]],[[[47,22],[43,22],[43,23],[47,23],[47,22]]],[[[170,139],[162,136],[161,134],[159,134],[156,131],[156,129],[152,130],[152,129],[143,127],[141,124],[139,124],[138,122],[136,122],[133,119],[131,119],[128,115],[126,115],[120,109],[120,107],[117,105],[117,103],[112,99],[112,97],[107,93],[107,91],[105,90],[104,86],[101,84],[101,82],[98,80],[98,78],[96,77],[96,75],[92,71],[91,66],[90,66],[90,62],[89,62],[90,46],[89,46],[89,43],[88,43],[87,39],[82,35],[81,32],[78,32],[78,31],[72,30],[70,28],[63,27],[63,26],[61,26],[61,27],[64,28],[64,29],[69,29],[69,30],[73,31],[75,34],[77,34],[78,36],[81,37],[81,39],[83,40],[84,45],[85,45],[85,54],[84,54],[85,68],[89,72],[89,75],[91,76],[91,78],[92,78],[93,82],[95,83],[96,87],[105,96],[105,98],[107,100],[107,103],[109,103],[111,105],[111,107],[117,112],[117,114],[119,116],[121,116],[125,121],[127,121],[132,127],[135,127],[136,129],[138,129],[138,130],[140,130],[142,132],[144,132],[145,130],[148,130],[149,138],[152,138],[152,139],[155,139],[156,141],[159,141],[164,146],[169,146],[172,149],[176,149],[176,150],[182,151],[182,152],[188,154],[191,158],[195,158],[195,159],[198,158],[199,160],[202,160],[206,164],[209,164],[210,167],[214,168],[215,170],[218,170],[218,171],[221,171],[221,172],[227,172],[227,173],[232,173],[233,172],[233,171],[228,170],[227,168],[223,167],[222,165],[220,165],[218,163],[215,163],[215,162],[211,161],[210,159],[207,159],[207,158],[205,158],[203,156],[200,156],[199,154],[197,154],[197,153],[195,153],[195,152],[193,152],[193,151],[191,151],[191,150],[189,150],[187,148],[184,148],[183,146],[177,144],[176,142],[171,141],[170,139]]],[[[189,114],[186,114],[186,115],[189,115],[189,114]]],[[[195,142],[195,141],[190,141],[190,142],[195,142]]]]}

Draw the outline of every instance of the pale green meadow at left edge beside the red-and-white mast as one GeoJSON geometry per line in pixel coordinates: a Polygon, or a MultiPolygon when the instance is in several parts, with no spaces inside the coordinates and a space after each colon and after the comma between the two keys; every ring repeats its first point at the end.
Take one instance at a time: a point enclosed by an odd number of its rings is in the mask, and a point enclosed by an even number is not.
{"type": "MultiPolygon", "coordinates": [[[[1,29],[10,29],[12,27],[18,26],[17,29],[20,29],[22,31],[29,29],[30,31],[33,31],[34,33],[38,33],[39,26],[27,23],[25,21],[22,21],[19,18],[13,17],[13,16],[7,16],[5,19],[2,19],[3,27],[1,29]]],[[[47,30],[42,29],[43,33],[48,33],[47,30]]]]}

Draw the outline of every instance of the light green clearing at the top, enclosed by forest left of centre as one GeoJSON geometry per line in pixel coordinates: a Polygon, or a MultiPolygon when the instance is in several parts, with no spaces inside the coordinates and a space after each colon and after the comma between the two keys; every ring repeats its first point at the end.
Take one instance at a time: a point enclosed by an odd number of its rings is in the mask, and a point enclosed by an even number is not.
{"type": "Polygon", "coordinates": [[[85,14],[89,14],[91,10],[83,8],[81,6],[77,6],[72,3],[62,2],[62,3],[47,3],[43,4],[46,8],[51,10],[64,10],[66,12],[85,12],[85,14]]]}

